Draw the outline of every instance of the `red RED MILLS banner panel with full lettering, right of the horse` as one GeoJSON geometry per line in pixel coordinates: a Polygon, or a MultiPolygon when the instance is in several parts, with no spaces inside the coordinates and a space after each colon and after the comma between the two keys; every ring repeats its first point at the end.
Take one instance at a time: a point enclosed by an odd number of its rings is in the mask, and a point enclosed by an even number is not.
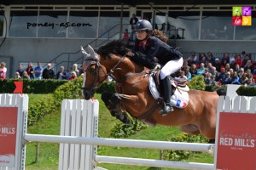
{"type": "Polygon", "coordinates": [[[256,114],[219,113],[218,170],[256,169],[256,114]]]}

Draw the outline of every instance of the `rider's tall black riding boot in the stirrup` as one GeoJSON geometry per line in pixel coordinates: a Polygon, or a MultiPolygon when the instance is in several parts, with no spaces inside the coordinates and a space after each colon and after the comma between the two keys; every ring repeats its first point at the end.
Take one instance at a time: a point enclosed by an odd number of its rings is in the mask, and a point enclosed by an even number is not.
{"type": "Polygon", "coordinates": [[[164,89],[164,100],[165,100],[165,107],[160,110],[161,116],[166,116],[168,112],[173,111],[173,107],[171,105],[171,97],[172,97],[172,85],[169,80],[169,77],[165,77],[161,80],[163,89],[164,89]]]}

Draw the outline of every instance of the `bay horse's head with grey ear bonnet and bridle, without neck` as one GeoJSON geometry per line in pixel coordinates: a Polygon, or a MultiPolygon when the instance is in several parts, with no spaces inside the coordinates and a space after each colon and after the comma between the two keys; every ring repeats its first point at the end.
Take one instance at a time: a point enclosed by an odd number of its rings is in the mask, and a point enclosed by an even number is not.
{"type": "Polygon", "coordinates": [[[82,87],[82,95],[84,99],[91,99],[94,96],[95,90],[100,87],[102,82],[108,77],[106,68],[100,64],[98,54],[94,49],[88,46],[89,54],[81,47],[84,54],[84,82],[82,87]]]}

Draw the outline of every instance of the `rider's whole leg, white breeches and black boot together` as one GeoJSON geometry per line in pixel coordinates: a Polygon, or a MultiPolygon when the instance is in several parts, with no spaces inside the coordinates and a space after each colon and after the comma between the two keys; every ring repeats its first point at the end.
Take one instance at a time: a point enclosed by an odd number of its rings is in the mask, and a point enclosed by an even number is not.
{"type": "Polygon", "coordinates": [[[165,99],[165,107],[160,111],[162,116],[166,116],[169,111],[173,111],[171,105],[171,97],[172,97],[172,85],[169,80],[169,75],[173,72],[180,69],[183,65],[183,58],[177,60],[171,60],[166,63],[166,65],[160,71],[160,79],[164,88],[164,99],[165,99]]]}

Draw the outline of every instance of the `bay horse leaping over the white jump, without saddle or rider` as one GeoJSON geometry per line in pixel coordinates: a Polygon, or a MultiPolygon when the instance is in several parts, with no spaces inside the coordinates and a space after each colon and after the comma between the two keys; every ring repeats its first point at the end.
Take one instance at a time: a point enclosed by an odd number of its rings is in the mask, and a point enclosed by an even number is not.
{"type": "Polygon", "coordinates": [[[201,134],[207,139],[215,139],[217,105],[219,95],[216,92],[189,90],[189,104],[175,108],[166,116],[160,116],[162,104],[154,99],[148,88],[150,70],[137,64],[125,54],[127,48],[122,41],[112,41],[96,51],[88,46],[89,54],[84,54],[84,99],[91,99],[106,80],[113,77],[115,92],[102,94],[102,100],[112,116],[130,123],[127,111],[132,117],[149,125],[178,126],[184,133],[201,134]]]}

